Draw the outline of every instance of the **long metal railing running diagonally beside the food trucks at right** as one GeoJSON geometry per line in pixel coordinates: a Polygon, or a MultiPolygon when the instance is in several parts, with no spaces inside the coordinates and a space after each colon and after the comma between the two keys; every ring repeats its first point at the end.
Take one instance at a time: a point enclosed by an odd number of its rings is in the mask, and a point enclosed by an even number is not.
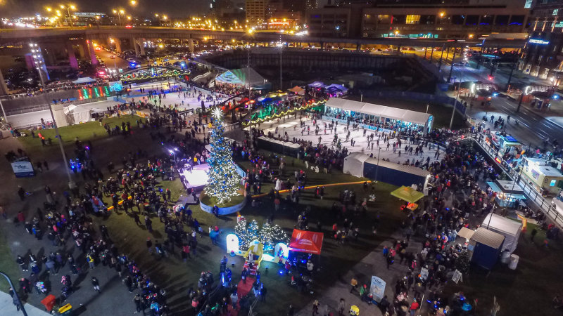
{"type": "MultiPolygon", "coordinates": [[[[491,157],[493,157],[493,159],[500,159],[502,162],[501,164],[498,164],[500,168],[505,171],[510,178],[516,179],[516,183],[519,187],[521,187],[522,191],[524,191],[526,197],[533,203],[537,204],[542,211],[547,213],[549,218],[553,220],[553,223],[559,227],[563,227],[563,216],[557,211],[557,209],[555,209],[555,206],[551,202],[546,200],[534,187],[526,183],[526,181],[522,179],[521,174],[512,168],[510,164],[507,164],[504,159],[497,154],[497,151],[486,143],[484,138],[472,137],[472,139],[475,140],[475,143],[478,143],[491,157]]],[[[523,166],[521,166],[521,168],[523,168],[523,166]]]]}

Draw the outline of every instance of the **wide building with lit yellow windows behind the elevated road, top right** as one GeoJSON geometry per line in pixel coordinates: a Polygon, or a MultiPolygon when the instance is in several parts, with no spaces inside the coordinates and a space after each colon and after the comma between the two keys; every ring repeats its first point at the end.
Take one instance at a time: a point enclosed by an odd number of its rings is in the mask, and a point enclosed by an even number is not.
{"type": "Polygon", "coordinates": [[[347,25],[348,37],[470,39],[491,33],[527,32],[529,8],[525,8],[525,2],[350,0],[341,1],[338,6],[308,10],[306,18],[310,34],[328,36],[329,29],[347,25]],[[351,20],[343,20],[348,17],[351,20]]]}

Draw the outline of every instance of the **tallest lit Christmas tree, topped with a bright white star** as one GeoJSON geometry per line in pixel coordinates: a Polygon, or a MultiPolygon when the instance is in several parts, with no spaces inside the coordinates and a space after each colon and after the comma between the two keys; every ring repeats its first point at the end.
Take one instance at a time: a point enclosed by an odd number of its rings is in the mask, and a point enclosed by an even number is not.
{"type": "Polygon", "coordinates": [[[240,176],[234,169],[231,146],[224,139],[222,112],[213,110],[215,129],[211,132],[211,152],[208,158],[208,184],[205,193],[215,197],[219,203],[229,202],[231,197],[239,195],[240,176]]]}

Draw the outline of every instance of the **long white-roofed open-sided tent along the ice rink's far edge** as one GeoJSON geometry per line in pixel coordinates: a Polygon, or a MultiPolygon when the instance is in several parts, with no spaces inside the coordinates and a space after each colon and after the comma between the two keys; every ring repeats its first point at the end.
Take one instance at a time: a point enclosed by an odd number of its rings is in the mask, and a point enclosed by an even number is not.
{"type": "Polygon", "coordinates": [[[341,98],[329,98],[323,119],[348,124],[354,121],[365,129],[414,130],[426,135],[432,129],[434,117],[424,112],[398,109],[341,98]]]}

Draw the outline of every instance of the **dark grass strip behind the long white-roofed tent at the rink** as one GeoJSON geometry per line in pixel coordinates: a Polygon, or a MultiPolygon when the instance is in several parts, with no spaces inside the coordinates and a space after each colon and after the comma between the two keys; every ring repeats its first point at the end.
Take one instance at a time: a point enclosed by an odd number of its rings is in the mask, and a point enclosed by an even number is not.
{"type": "MultiPolygon", "coordinates": [[[[359,96],[350,96],[350,100],[359,101],[359,96]]],[[[418,112],[426,112],[425,102],[417,102],[411,100],[391,100],[391,99],[380,99],[380,98],[367,98],[363,97],[363,102],[374,103],[379,105],[386,105],[389,107],[398,107],[399,109],[412,110],[418,112]]],[[[450,127],[450,119],[452,118],[452,107],[450,105],[443,105],[441,103],[431,103],[428,112],[434,116],[433,129],[441,129],[445,127],[448,129],[450,127]]],[[[453,129],[463,129],[467,127],[467,121],[465,121],[462,114],[455,112],[453,119],[453,129]]]]}

